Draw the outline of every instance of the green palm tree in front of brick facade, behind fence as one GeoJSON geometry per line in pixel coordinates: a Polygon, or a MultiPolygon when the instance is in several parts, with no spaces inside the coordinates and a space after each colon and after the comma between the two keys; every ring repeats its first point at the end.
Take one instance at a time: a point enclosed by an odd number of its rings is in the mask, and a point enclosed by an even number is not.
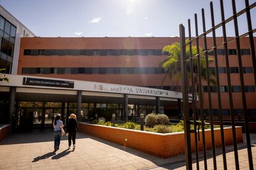
{"type": "MultiPolygon", "coordinates": [[[[187,42],[189,41],[186,40],[186,44],[187,42]]],[[[163,67],[167,71],[166,76],[167,75],[169,76],[169,79],[171,80],[173,86],[175,87],[177,86],[177,84],[179,84],[179,81],[181,81],[181,44],[179,42],[174,42],[171,45],[165,46],[163,48],[163,52],[168,53],[168,57],[166,57],[163,63],[161,63],[161,67],[163,67]]],[[[202,54],[202,52],[203,52],[203,49],[200,48],[199,54],[202,54]]],[[[197,54],[197,47],[192,46],[192,56],[195,56],[196,54],[197,54]]],[[[189,59],[190,57],[189,45],[186,46],[186,56],[187,56],[187,59],[189,59]]],[[[210,56],[208,57],[208,63],[213,62],[213,60],[214,60],[213,57],[210,57],[210,56]]],[[[198,87],[197,59],[193,60],[193,68],[194,68],[194,73],[190,73],[190,63],[187,64],[189,88],[191,90],[190,80],[192,76],[195,83],[195,92],[197,92],[197,87],[198,87]]],[[[202,79],[207,79],[206,60],[203,55],[200,55],[200,68],[201,68],[202,79]]],[[[209,69],[209,75],[210,75],[210,83],[215,84],[215,79],[212,78],[212,76],[215,75],[214,70],[209,69]]],[[[162,82],[162,86],[163,86],[163,82],[162,82]]]]}

